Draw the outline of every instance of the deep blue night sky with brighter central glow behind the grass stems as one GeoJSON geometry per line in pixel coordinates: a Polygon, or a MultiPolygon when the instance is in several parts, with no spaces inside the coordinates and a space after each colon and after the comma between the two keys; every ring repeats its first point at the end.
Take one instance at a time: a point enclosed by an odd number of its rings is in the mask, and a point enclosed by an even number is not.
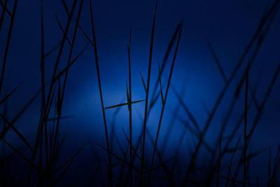
{"type": "MultiPolygon", "coordinates": [[[[5,2],[7,0],[1,0],[5,2]]],[[[2,4],[3,4],[2,3],[2,4]]],[[[8,1],[8,10],[13,11],[15,0],[8,1]]],[[[66,4],[71,10],[73,1],[67,0],[66,4]]],[[[151,43],[151,32],[153,26],[153,16],[155,12],[156,1],[128,1],[128,0],[94,0],[92,1],[94,15],[94,29],[96,35],[96,43],[98,48],[99,71],[102,84],[102,92],[104,99],[104,107],[113,106],[127,102],[127,83],[129,79],[128,54],[127,45],[130,43],[130,29],[132,30],[132,46],[131,46],[131,64],[132,64],[132,101],[145,99],[146,94],[141,81],[141,74],[144,81],[147,83],[148,62],[151,43]]],[[[179,50],[176,55],[172,81],[167,95],[167,104],[162,118],[162,127],[158,139],[158,148],[165,152],[162,153],[162,159],[168,160],[172,158],[178,150],[178,162],[181,165],[182,173],[185,174],[185,168],[188,167],[191,158],[191,153],[195,149],[198,139],[195,135],[186,129],[186,126],[180,119],[185,120],[195,129],[193,120],[182,107],[178,97],[174,92],[179,92],[183,102],[188,106],[193,117],[200,125],[200,130],[203,130],[209,117],[209,111],[214,108],[218,95],[225,86],[223,75],[219,70],[209,43],[216,53],[221,64],[226,78],[235,69],[241,55],[246,50],[248,43],[255,34],[260,20],[265,13],[269,12],[274,1],[272,0],[159,0],[157,15],[155,19],[155,37],[153,43],[153,57],[151,64],[151,89],[149,102],[151,102],[153,88],[159,75],[159,65],[165,57],[165,51],[172,39],[174,31],[183,20],[183,29],[179,50]],[[172,120],[174,115],[178,116],[176,120],[172,120]],[[186,134],[180,138],[180,134],[186,131],[186,134]],[[169,134],[169,135],[168,135],[169,134]],[[167,140],[167,136],[169,139],[167,140]],[[165,143],[162,143],[165,142],[165,143]],[[165,147],[166,146],[166,147],[165,147]]],[[[77,6],[74,11],[75,17],[78,15],[78,6],[80,0],[77,1],[77,6]]],[[[276,6],[279,8],[279,5],[276,6]]],[[[0,13],[3,12],[3,6],[0,8],[0,13]]],[[[62,41],[63,32],[59,29],[55,15],[62,24],[62,28],[66,27],[68,16],[62,4],[62,1],[43,1],[43,19],[44,19],[44,40],[45,53],[51,50],[55,45],[62,41]]],[[[244,98],[245,98],[245,83],[241,85],[240,94],[235,97],[237,85],[246,72],[248,62],[251,66],[248,74],[248,103],[255,100],[261,104],[265,100],[265,95],[269,89],[276,68],[279,65],[279,49],[280,49],[280,17],[279,13],[275,12],[275,18],[269,25],[269,30],[262,35],[262,46],[258,50],[258,54],[254,56],[255,48],[258,48],[259,36],[253,43],[253,46],[246,53],[246,57],[233,78],[228,90],[225,92],[221,104],[216,111],[216,114],[211,120],[209,130],[204,136],[204,140],[209,145],[215,147],[218,139],[218,132],[228,109],[231,106],[232,100],[235,100],[235,107],[232,110],[228,125],[223,133],[223,139],[227,139],[240,116],[244,114],[244,98]],[[252,62],[253,61],[253,62],[252,62]],[[252,95],[253,91],[253,95],[252,95]]],[[[267,22],[266,25],[267,26],[267,22]]],[[[72,39],[73,30],[75,29],[75,21],[71,21],[68,37],[72,39]]],[[[80,15],[80,26],[84,32],[92,39],[92,28],[90,19],[90,3],[85,0],[83,9],[80,15]]],[[[0,69],[6,50],[6,40],[8,38],[8,30],[10,27],[10,17],[6,13],[3,25],[0,30],[0,69]]],[[[265,27],[266,28],[266,27],[265,27]]],[[[262,29],[263,33],[264,29],[262,29]]],[[[176,41],[177,41],[176,37],[176,41]]],[[[94,50],[89,44],[84,34],[78,29],[76,41],[73,48],[73,57],[76,57],[85,46],[84,53],[80,55],[78,60],[69,69],[69,76],[66,83],[65,97],[62,106],[62,117],[60,121],[60,139],[66,135],[64,144],[59,156],[57,157],[57,166],[59,163],[68,160],[80,146],[84,146],[82,151],[74,158],[73,165],[62,177],[57,186],[89,186],[95,169],[98,167],[97,179],[94,181],[95,186],[106,186],[106,162],[107,153],[102,150],[97,144],[106,147],[106,138],[104,132],[104,122],[102,118],[102,105],[99,97],[99,87],[97,81],[97,68],[94,60],[94,50]]],[[[62,71],[66,67],[69,54],[69,43],[64,44],[62,58],[59,63],[58,71],[62,71]]],[[[58,55],[58,48],[45,58],[45,83],[46,88],[50,86],[52,71],[55,66],[55,60],[58,55]]],[[[175,52],[175,45],[167,60],[165,71],[162,72],[162,89],[165,92],[172,58],[175,52]]],[[[72,57],[72,59],[73,59],[72,57]]],[[[11,95],[3,104],[1,104],[1,113],[8,119],[12,120],[17,113],[20,112],[23,106],[29,99],[41,90],[41,1],[38,0],[23,0],[18,1],[18,7],[15,14],[13,24],[13,32],[10,39],[10,47],[8,48],[8,58],[6,62],[6,71],[3,77],[3,88],[0,92],[0,98],[3,99],[11,90],[18,85],[19,88],[11,95]]],[[[64,79],[62,79],[64,80],[64,79]]],[[[58,84],[55,85],[58,89],[58,84]]],[[[159,87],[157,92],[159,91],[159,87]]],[[[57,91],[56,91],[57,93],[57,91]]],[[[280,79],[276,78],[269,98],[262,109],[262,116],[255,127],[248,146],[248,153],[258,153],[251,160],[251,165],[248,170],[248,181],[256,184],[256,176],[262,185],[267,184],[267,170],[269,162],[269,148],[271,149],[272,165],[280,143],[279,138],[279,116],[280,116],[280,79]]],[[[56,96],[57,99],[57,96],[56,96]]],[[[55,100],[54,100],[55,103],[55,100]]],[[[15,122],[15,127],[25,136],[31,146],[34,146],[38,122],[41,115],[41,94],[28,107],[25,113],[15,122]]],[[[143,129],[145,102],[132,104],[132,134],[134,139],[132,144],[137,144],[137,139],[143,129]]],[[[147,129],[148,132],[155,135],[158,129],[158,121],[162,102],[158,97],[157,102],[151,114],[148,117],[147,129]]],[[[116,137],[120,141],[120,146],[123,150],[127,149],[128,143],[123,130],[129,134],[129,110],[127,106],[120,106],[118,109],[106,109],[106,120],[109,127],[109,134],[115,128],[116,137]],[[114,116],[118,111],[117,116],[114,116]],[[116,119],[116,121],[114,120],[116,119]],[[115,125],[113,125],[116,123],[115,125]]],[[[50,109],[50,118],[53,118],[55,107],[50,109]]],[[[258,109],[255,104],[251,104],[248,108],[248,130],[253,127],[255,116],[258,114],[258,109]]],[[[1,127],[4,123],[1,120],[1,127]]],[[[235,153],[235,160],[232,166],[232,174],[235,175],[237,181],[243,180],[243,166],[239,172],[235,173],[237,163],[242,157],[242,146],[244,144],[244,120],[241,126],[232,138],[230,148],[235,148],[235,144],[241,136],[239,148],[235,153]]],[[[122,156],[118,143],[114,137],[111,141],[113,153],[122,156]]],[[[22,140],[13,130],[9,130],[5,135],[6,141],[13,146],[19,148],[20,151],[31,158],[31,153],[22,140]]],[[[1,159],[5,155],[11,153],[10,149],[3,141],[1,144],[1,159]],[[1,152],[2,151],[2,152],[1,152]]],[[[222,142],[222,147],[225,144],[222,142]]],[[[140,155],[140,148],[137,150],[140,155]]],[[[146,162],[150,165],[151,155],[153,153],[153,144],[146,136],[146,162]]],[[[217,154],[218,152],[216,152],[217,154]]],[[[177,155],[177,154],[176,154],[177,155]]],[[[216,155],[218,157],[218,155],[216,155]]],[[[228,174],[228,165],[232,152],[225,154],[222,160],[223,167],[221,175],[228,174]]],[[[127,160],[129,160],[129,154],[127,160]]],[[[209,165],[211,154],[202,146],[197,155],[196,167],[209,165]]],[[[279,158],[278,158],[279,159],[279,158]]],[[[277,160],[277,159],[276,159],[277,160]]],[[[113,158],[116,167],[113,169],[114,185],[118,181],[122,162],[113,158]]],[[[172,168],[174,160],[167,164],[168,168],[172,168]]],[[[140,168],[139,160],[134,162],[135,167],[140,168]]],[[[155,160],[155,165],[160,165],[160,160],[155,160]]],[[[27,179],[27,171],[29,165],[19,155],[15,155],[10,161],[10,172],[16,173],[20,169],[20,173],[15,176],[15,181],[20,181],[24,185],[27,179]]],[[[273,167],[272,167],[273,168],[273,167]]],[[[180,170],[179,169],[179,170],[180,170]]],[[[179,170],[174,172],[173,176],[176,185],[181,184],[182,176],[179,170]]],[[[203,179],[207,172],[205,169],[197,169],[197,179],[203,179]],[[205,173],[204,173],[205,172],[205,173]]],[[[207,170],[207,169],[206,169],[207,170]]],[[[272,171],[273,169],[271,169],[272,171]]],[[[125,167],[124,176],[127,176],[128,167],[125,167]]],[[[35,172],[34,172],[35,173],[35,172]]],[[[134,185],[139,184],[140,177],[138,173],[133,173],[134,185]]],[[[276,176],[279,172],[276,172],[276,176]]],[[[147,175],[148,176],[148,175],[147,175]]],[[[155,180],[152,181],[152,186],[156,183],[167,186],[168,180],[162,179],[165,176],[164,169],[158,169],[158,172],[153,172],[155,180]]],[[[277,177],[276,177],[277,178],[277,177]]],[[[195,178],[193,178],[195,180],[195,178]]],[[[31,186],[36,186],[36,174],[31,178],[31,186]]],[[[216,180],[216,178],[215,178],[216,180]]],[[[221,178],[221,185],[225,185],[226,179],[221,178]]],[[[124,180],[125,181],[125,180],[124,180]]],[[[128,180],[129,181],[129,180],[128,180]]],[[[275,181],[275,185],[280,184],[279,179],[275,181]]],[[[127,183],[128,186],[130,186],[127,183]]],[[[239,183],[240,185],[240,183],[239,183]]],[[[123,183],[125,186],[125,183],[123,183]]],[[[203,185],[202,185],[203,186],[203,185]]]]}

